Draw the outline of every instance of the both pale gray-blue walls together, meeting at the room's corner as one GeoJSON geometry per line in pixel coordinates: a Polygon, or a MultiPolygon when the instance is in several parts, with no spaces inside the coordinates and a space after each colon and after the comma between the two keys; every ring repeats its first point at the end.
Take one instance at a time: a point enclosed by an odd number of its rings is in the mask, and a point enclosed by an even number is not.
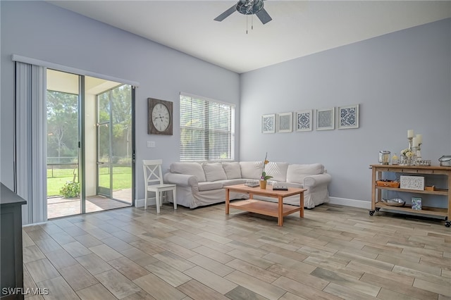
{"type": "MultiPolygon", "coordinates": [[[[140,82],[136,92],[137,162],[179,160],[174,135],[147,135],[147,97],[174,102],[180,91],[237,104],[236,160],[323,163],[330,195],[369,201],[378,151],[407,146],[407,130],[424,136],[423,157],[451,154],[451,20],[323,51],[237,75],[43,1],[0,1],[0,179],[13,185],[11,54],[140,82]],[[352,130],[261,134],[261,115],[360,104],[352,130]],[[156,142],[149,149],[147,141],[156,142]]],[[[315,120],[316,121],[316,120],[315,120]]],[[[144,196],[137,163],[137,199],[144,196]]]]}

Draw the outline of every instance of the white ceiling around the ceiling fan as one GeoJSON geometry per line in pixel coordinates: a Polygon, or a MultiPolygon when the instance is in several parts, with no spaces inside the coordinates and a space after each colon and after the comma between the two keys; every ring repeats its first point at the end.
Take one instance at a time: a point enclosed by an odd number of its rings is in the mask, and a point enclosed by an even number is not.
{"type": "Polygon", "coordinates": [[[48,2],[237,73],[451,17],[451,1],[267,0],[273,20],[251,30],[237,12],[213,20],[236,1],[48,2]]]}

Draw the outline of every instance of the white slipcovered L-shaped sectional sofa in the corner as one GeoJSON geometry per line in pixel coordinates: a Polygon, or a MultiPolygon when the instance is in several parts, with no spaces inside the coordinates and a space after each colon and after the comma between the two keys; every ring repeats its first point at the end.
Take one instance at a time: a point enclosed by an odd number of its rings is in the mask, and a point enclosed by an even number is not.
{"type": "MultiPolygon", "coordinates": [[[[206,206],[226,201],[226,185],[239,185],[246,180],[258,180],[263,168],[262,161],[197,163],[171,163],[165,173],[166,183],[177,185],[177,204],[188,208],[206,206]]],[[[314,208],[329,201],[328,184],[331,177],[320,163],[290,164],[270,162],[266,165],[271,181],[288,187],[307,189],[304,192],[304,207],[314,208]]],[[[270,182],[271,183],[271,182],[270,182]]],[[[259,187],[256,187],[258,189],[259,187]]],[[[247,199],[247,194],[230,192],[230,200],[247,199]]],[[[256,197],[257,198],[257,197],[256,197]]],[[[169,201],[172,201],[168,195],[169,201]]],[[[276,199],[267,198],[268,201],[276,199]]],[[[284,203],[299,206],[299,196],[287,197],[284,203]]]]}

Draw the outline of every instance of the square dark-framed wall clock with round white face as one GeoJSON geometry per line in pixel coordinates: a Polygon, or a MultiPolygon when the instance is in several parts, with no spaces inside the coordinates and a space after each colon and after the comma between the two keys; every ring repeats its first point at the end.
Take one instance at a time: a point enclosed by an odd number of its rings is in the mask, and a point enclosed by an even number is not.
{"type": "Polygon", "coordinates": [[[149,135],[172,135],[173,103],[160,99],[147,99],[149,109],[147,133],[149,135]]]}

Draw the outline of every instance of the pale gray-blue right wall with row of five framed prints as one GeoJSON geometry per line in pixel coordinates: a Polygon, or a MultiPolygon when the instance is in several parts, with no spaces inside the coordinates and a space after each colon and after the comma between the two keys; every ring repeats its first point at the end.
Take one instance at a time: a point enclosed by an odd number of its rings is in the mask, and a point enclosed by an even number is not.
{"type": "Polygon", "coordinates": [[[438,165],[451,154],[450,43],[447,19],[243,74],[241,159],[268,151],[270,161],[323,163],[330,196],[362,201],[371,200],[378,151],[399,156],[409,129],[438,165]],[[261,133],[264,114],[350,104],[360,104],[358,129],[261,133]]]}

